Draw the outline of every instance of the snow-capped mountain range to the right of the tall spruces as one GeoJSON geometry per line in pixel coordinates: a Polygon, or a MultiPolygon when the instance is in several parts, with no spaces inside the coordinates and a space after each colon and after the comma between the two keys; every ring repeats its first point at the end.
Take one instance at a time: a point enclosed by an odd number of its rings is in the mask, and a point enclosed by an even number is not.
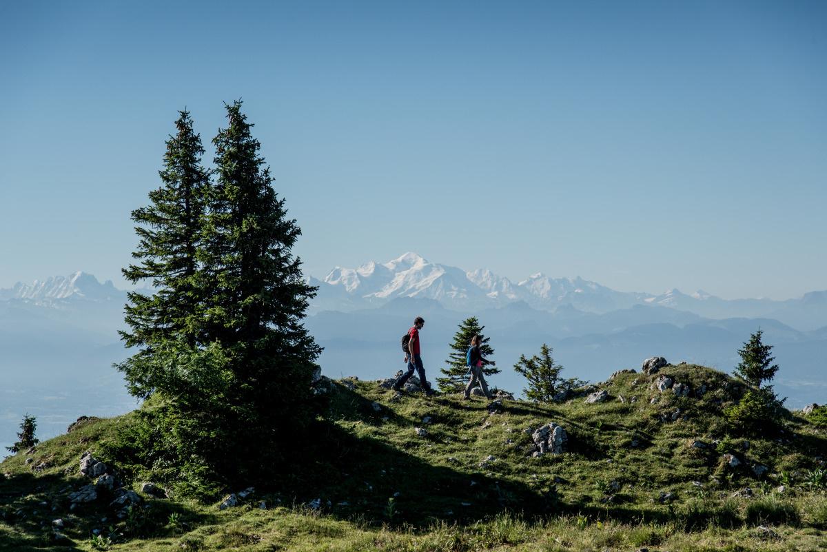
{"type": "Polygon", "coordinates": [[[539,310],[554,311],[564,305],[584,312],[605,313],[634,305],[670,307],[710,318],[778,318],[801,329],[827,324],[827,292],[806,293],[786,301],[771,299],[726,300],[704,291],[691,295],[672,289],[666,293],[618,292],[580,278],[551,278],[531,274],[514,283],[488,269],[465,271],[428,262],[421,255],[405,253],[387,263],[370,261],[356,269],[336,267],[319,286],[314,310],[352,311],[375,307],[398,297],[433,299],[461,311],[502,307],[526,302],[539,310]]]}

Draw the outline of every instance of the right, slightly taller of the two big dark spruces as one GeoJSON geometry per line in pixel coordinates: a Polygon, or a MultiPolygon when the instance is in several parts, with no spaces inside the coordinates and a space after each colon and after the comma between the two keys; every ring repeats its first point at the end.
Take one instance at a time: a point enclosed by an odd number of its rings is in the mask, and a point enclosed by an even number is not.
{"type": "Polygon", "coordinates": [[[272,187],[241,102],[226,108],[227,128],[213,139],[203,274],[211,292],[205,331],[227,359],[222,373],[231,383],[222,401],[232,408],[208,423],[232,443],[232,456],[247,454],[266,469],[284,459],[285,441],[313,415],[310,383],[321,348],[302,322],[317,288],[292,254],[301,230],[272,187]]]}

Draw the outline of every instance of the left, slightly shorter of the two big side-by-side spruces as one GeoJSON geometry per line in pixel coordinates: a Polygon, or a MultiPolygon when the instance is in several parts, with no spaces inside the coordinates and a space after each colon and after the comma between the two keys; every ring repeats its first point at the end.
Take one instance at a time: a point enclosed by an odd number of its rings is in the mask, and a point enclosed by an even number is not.
{"type": "Polygon", "coordinates": [[[122,271],[131,283],[154,288],[153,293],[128,294],[130,329],[120,332],[127,347],[141,347],[117,365],[137,397],[148,397],[161,384],[163,370],[149,367],[157,347],[173,340],[194,347],[202,336],[198,252],[209,173],[201,164],[204,149],[189,112],[179,112],[175,126],[177,133],[166,141],[164,167],[158,173],[161,186],[149,193],[148,206],[131,214],[139,238],[132,257],[140,262],[122,271]]]}

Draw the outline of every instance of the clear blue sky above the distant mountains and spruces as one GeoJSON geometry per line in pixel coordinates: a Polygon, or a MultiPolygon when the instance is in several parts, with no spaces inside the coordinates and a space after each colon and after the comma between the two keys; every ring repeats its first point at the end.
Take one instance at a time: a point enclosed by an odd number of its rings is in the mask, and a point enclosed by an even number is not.
{"type": "MultiPolygon", "coordinates": [[[[242,98],[309,274],[827,288],[825,2],[5,2],[0,287],[123,283],[189,108],[242,98]]],[[[211,160],[211,155],[208,155],[211,160]]]]}

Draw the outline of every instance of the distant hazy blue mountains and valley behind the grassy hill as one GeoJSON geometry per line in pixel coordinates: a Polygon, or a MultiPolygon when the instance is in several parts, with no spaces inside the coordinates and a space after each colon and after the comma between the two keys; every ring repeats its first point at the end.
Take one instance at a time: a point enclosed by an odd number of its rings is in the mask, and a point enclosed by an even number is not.
{"type": "MultiPolygon", "coordinates": [[[[725,300],[702,291],[624,293],[583,278],[531,274],[519,282],[487,269],[461,269],[406,253],[388,262],[336,267],[318,285],[306,326],[325,348],[332,378],[386,378],[402,369],[399,337],[414,316],[427,321],[423,361],[436,378],[457,325],[477,316],[490,336],[499,388],[519,392],[511,366],[547,343],[566,377],[605,379],[665,356],[731,373],[737,350],[761,327],[781,369],[776,389],[787,407],[823,402],[827,292],[783,301],[725,300]]],[[[111,416],[136,406],[112,363],[128,351],[118,339],[126,291],[82,272],[0,290],[0,446],[22,415],[37,416],[44,438],[81,415],[111,416]]]]}

